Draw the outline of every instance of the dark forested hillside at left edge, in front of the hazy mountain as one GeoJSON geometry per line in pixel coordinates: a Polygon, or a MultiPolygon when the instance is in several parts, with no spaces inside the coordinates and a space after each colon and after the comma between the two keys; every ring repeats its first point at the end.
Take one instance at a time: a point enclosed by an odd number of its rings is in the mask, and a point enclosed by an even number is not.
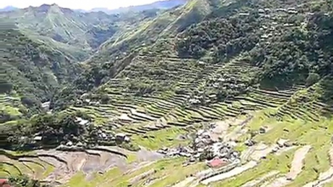
{"type": "Polygon", "coordinates": [[[81,72],[74,59],[29,39],[10,22],[1,21],[0,35],[1,94],[20,98],[31,110],[81,72]]]}

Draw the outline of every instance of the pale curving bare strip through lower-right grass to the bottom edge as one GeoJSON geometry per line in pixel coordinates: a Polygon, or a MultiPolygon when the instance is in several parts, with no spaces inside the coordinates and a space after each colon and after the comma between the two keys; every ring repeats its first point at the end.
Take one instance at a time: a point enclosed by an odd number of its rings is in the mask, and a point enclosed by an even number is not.
{"type": "Polygon", "coordinates": [[[311,146],[306,145],[299,148],[294,155],[294,159],[291,162],[290,171],[283,177],[275,179],[269,184],[264,184],[261,187],[284,187],[288,185],[292,180],[295,180],[297,175],[302,171],[303,160],[306,154],[310,151],[311,146]]]}

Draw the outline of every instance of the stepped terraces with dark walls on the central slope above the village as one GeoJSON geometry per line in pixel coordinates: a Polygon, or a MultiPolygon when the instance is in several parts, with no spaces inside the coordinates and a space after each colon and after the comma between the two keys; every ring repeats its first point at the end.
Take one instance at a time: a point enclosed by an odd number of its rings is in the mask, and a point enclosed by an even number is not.
{"type": "MultiPolygon", "coordinates": [[[[161,57],[158,62],[147,63],[156,60],[156,57],[139,56],[126,67],[117,78],[111,79],[103,88],[106,89],[112,104],[98,106],[73,106],[66,112],[82,110],[93,117],[102,125],[117,129],[119,127],[132,134],[150,131],[143,129],[147,124],[151,129],[161,129],[171,125],[186,126],[192,123],[218,120],[225,117],[235,117],[241,114],[239,107],[216,103],[217,96],[214,93],[207,95],[207,103],[215,103],[211,106],[191,107],[189,100],[195,99],[196,91],[201,87],[214,89],[210,82],[216,80],[217,75],[224,74],[232,78],[219,78],[219,85],[242,84],[241,74],[234,72],[250,71],[250,65],[241,65],[241,62],[232,61],[223,64],[198,64],[196,60],[178,59],[174,57],[161,57]],[[143,68],[144,66],[144,68],[143,68]],[[161,68],[163,67],[163,68],[161,68]],[[149,71],[149,72],[147,72],[149,71]],[[131,86],[130,79],[142,80],[147,84],[158,84],[160,91],[153,94],[137,95],[135,88],[131,86]],[[163,87],[163,89],[162,89],[163,87]],[[156,124],[157,123],[157,124],[156,124]],[[155,124],[155,125],[151,125],[155,124]],[[133,126],[138,126],[133,128],[133,126]]],[[[238,86],[235,86],[236,90],[238,86]]],[[[250,109],[250,108],[249,108],[250,109]]]]}

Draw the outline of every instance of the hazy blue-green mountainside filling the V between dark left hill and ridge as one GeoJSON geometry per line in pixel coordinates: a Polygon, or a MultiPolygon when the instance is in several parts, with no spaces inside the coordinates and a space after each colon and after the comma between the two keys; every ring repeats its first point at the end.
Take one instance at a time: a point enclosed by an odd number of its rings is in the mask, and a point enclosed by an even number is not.
{"type": "Polygon", "coordinates": [[[134,27],[136,24],[133,23],[151,16],[156,15],[80,13],[56,4],[0,13],[0,17],[15,22],[20,31],[33,40],[42,40],[80,61],[86,59],[117,31],[134,27]]]}

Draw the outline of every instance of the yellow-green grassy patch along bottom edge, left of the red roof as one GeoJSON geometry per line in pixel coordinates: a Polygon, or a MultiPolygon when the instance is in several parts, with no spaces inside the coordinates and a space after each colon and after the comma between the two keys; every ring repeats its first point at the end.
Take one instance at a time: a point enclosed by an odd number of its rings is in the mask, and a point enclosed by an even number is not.
{"type": "Polygon", "coordinates": [[[78,173],[72,177],[64,187],[95,187],[97,185],[103,186],[106,184],[112,185],[113,187],[124,187],[130,184],[132,184],[133,187],[140,187],[147,179],[133,180],[135,181],[133,183],[130,182],[131,179],[139,174],[150,172],[151,170],[153,172],[149,177],[156,180],[150,183],[150,187],[165,187],[169,184],[176,184],[177,181],[185,179],[186,176],[204,169],[204,164],[202,163],[183,167],[183,161],[184,159],[182,158],[163,159],[129,173],[122,173],[119,169],[114,168],[103,175],[96,174],[91,181],[86,181],[84,174],[78,173]]]}

